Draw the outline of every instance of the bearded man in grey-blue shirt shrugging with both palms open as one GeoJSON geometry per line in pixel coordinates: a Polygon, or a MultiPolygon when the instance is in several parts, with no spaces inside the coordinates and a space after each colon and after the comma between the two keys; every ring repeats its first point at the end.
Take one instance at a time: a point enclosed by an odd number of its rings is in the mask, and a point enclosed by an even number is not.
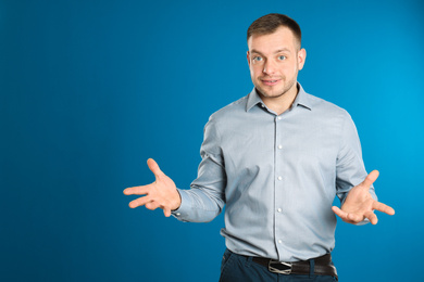
{"type": "Polygon", "coordinates": [[[248,29],[252,92],[214,113],[190,190],[177,190],[153,159],[157,181],[128,188],[130,207],[158,207],[182,221],[210,221],[224,204],[220,281],[335,281],[336,216],[377,223],[374,170],[366,175],[349,114],[297,82],[307,57],[299,25],[269,14],[248,29]],[[332,207],[335,195],[341,209],[332,207]]]}

